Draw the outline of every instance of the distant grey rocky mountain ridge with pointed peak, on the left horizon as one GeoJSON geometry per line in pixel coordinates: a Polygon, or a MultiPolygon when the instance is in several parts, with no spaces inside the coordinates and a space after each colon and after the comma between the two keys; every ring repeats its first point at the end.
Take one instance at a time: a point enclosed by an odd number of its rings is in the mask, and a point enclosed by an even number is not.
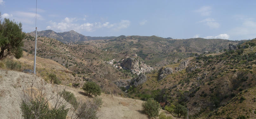
{"type": "MultiPolygon", "coordinates": [[[[28,33],[31,36],[35,36],[35,31],[28,33]]],[[[90,37],[84,36],[74,30],[67,31],[67,32],[55,32],[52,30],[45,30],[45,31],[37,31],[37,36],[42,37],[50,37],[55,38],[62,43],[76,43],[80,41],[89,41],[89,40],[104,40],[104,39],[114,39],[116,37],[90,37]]]]}

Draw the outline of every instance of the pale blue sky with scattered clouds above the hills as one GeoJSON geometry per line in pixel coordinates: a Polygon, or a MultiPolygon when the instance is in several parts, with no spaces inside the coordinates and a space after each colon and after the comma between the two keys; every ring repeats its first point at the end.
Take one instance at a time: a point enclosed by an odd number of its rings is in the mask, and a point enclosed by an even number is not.
{"type": "MultiPolygon", "coordinates": [[[[255,0],[37,0],[38,31],[177,39],[256,38],[255,0]]],[[[3,18],[35,31],[36,0],[0,0],[3,18]]]]}

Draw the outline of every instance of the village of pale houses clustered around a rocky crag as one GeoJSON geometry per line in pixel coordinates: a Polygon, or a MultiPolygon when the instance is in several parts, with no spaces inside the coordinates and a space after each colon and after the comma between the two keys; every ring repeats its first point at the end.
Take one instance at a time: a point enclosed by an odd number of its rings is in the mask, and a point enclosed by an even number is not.
{"type": "Polygon", "coordinates": [[[137,54],[132,54],[131,57],[121,59],[121,60],[109,60],[107,63],[112,65],[113,67],[116,67],[117,69],[124,69],[129,70],[132,72],[132,74],[139,75],[140,73],[148,73],[153,71],[153,68],[149,65],[146,65],[142,63],[138,59],[137,54]]]}

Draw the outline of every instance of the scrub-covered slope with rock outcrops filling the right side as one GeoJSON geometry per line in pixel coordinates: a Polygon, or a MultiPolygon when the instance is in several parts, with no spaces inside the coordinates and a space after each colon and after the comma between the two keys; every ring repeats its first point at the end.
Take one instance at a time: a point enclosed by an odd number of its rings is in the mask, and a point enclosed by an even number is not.
{"type": "Polygon", "coordinates": [[[181,104],[191,118],[255,118],[256,39],[219,54],[202,54],[165,65],[132,87],[133,98],[181,104]]]}

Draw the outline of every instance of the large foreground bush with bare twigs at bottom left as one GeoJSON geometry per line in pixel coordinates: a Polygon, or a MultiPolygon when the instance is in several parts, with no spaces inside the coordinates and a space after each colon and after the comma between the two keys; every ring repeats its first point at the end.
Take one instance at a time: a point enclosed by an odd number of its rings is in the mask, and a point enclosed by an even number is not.
{"type": "MultiPolygon", "coordinates": [[[[33,87],[33,82],[30,87],[33,87]]],[[[47,92],[45,84],[42,86],[27,89],[22,91],[20,102],[20,109],[22,118],[25,119],[65,119],[68,110],[66,104],[61,99],[62,95],[54,94],[54,92],[47,92]],[[54,99],[54,104],[49,107],[48,103],[54,99]]],[[[58,92],[58,91],[57,91],[58,92]]]]}

